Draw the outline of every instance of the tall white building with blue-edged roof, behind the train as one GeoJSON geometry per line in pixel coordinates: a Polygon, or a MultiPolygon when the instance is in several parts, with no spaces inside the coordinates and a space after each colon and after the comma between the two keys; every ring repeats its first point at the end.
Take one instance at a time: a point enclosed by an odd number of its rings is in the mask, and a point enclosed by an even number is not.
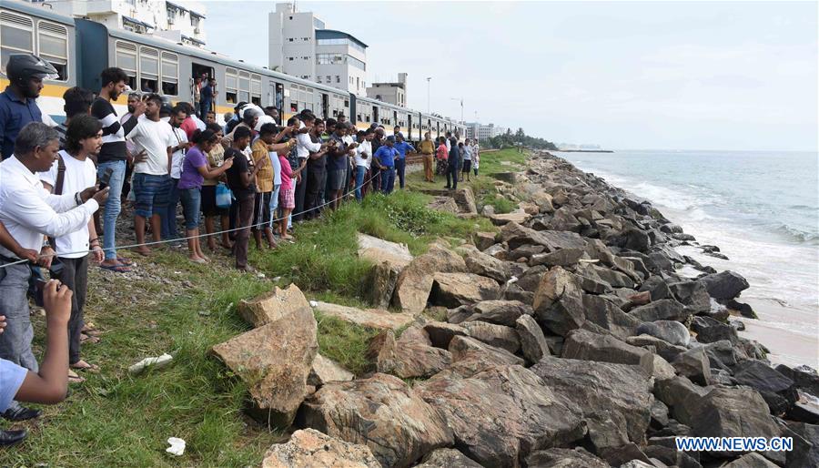
{"type": "Polygon", "coordinates": [[[363,95],[367,45],[356,37],[327,29],[312,12],[277,4],[268,16],[269,67],[288,75],[363,95]]]}

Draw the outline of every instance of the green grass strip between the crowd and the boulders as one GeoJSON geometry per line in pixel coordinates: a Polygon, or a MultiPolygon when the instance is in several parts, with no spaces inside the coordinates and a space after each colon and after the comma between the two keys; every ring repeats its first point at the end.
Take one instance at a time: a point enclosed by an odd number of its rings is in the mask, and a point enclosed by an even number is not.
{"type": "MultiPolygon", "coordinates": [[[[487,153],[487,167],[492,158],[487,153]]],[[[83,356],[102,371],[84,374],[86,382],[72,385],[66,402],[43,407],[35,422],[0,426],[30,432],[25,443],[0,451],[0,466],[258,466],[282,434],[244,415],[247,387],[210,355],[215,344],[248,331],[236,304],[292,281],[310,300],[369,307],[362,293],[370,265],[356,254],[356,232],[403,242],[418,255],[432,239],[454,243],[491,229],[486,219],[426,209],[429,201],[410,191],[376,195],[298,225],[295,244],[251,248],[251,265],[266,278],[239,274],[227,253],[201,266],[187,261],[185,250],[157,250],[128,277],[92,267],[86,321],[103,335],[99,344],[84,346],[83,356]],[[165,352],[174,356],[170,366],[127,372],[165,352]],[[168,437],[187,442],[182,458],[165,453],[168,437]]],[[[445,317],[443,310],[428,315],[445,317]]],[[[35,352],[42,357],[45,320],[37,311],[33,320],[35,352]]],[[[320,352],[349,371],[366,371],[376,331],[320,314],[317,320],[320,352]]]]}

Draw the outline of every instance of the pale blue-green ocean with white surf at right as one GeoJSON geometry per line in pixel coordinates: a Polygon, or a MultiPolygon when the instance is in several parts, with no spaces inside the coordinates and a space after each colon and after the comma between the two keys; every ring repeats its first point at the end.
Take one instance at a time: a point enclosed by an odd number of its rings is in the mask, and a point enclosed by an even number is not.
{"type": "Polygon", "coordinates": [[[577,168],[652,201],[700,244],[678,251],[751,287],[739,298],[759,320],[741,336],[769,359],[819,367],[819,155],[814,152],[616,151],[563,153],[577,168]]]}

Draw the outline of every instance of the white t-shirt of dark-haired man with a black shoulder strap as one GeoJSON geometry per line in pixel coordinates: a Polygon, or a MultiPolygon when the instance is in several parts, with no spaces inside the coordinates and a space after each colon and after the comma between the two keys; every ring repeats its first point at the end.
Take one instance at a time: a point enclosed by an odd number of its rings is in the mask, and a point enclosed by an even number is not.
{"type": "MultiPolygon", "coordinates": [[[[91,158],[86,158],[85,161],[73,158],[66,153],[65,150],[60,151],[60,156],[66,163],[66,174],[63,178],[63,191],[67,193],[76,193],[93,187],[96,184],[96,167],[91,158]]],[[[44,181],[51,187],[55,187],[57,172],[59,171],[59,161],[54,161],[51,169],[40,172],[40,180],[44,181]]],[[[82,228],[74,232],[70,232],[65,236],[60,236],[55,240],[55,250],[57,256],[65,259],[80,259],[88,254],[88,223],[84,224],[82,228]],[[70,253],[81,252],[81,253],[70,253]]]]}

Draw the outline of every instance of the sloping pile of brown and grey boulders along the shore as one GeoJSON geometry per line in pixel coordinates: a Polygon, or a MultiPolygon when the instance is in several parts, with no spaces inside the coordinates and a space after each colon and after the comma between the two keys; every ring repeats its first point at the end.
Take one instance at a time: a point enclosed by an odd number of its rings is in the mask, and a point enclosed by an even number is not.
{"type": "Polygon", "coordinates": [[[531,206],[499,232],[384,256],[395,281],[379,297],[401,313],[378,311],[366,375],[316,359],[310,310],[243,305],[259,328],[214,351],[268,419],[305,430],[267,465],[817,466],[819,375],[774,369],[737,334],[728,309],[747,281],[679,255],[693,239],[679,226],[561,158],[541,152],[514,180],[531,206]],[[787,436],[794,451],[682,453],[680,436],[787,436]]]}

